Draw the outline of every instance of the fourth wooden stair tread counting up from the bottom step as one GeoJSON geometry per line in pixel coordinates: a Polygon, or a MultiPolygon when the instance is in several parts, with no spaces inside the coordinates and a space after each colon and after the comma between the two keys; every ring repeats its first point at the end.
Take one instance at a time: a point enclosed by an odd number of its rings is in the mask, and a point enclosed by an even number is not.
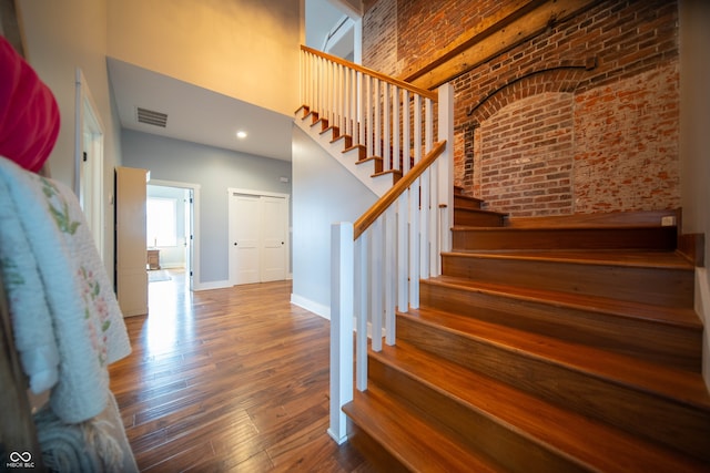
{"type": "Polygon", "coordinates": [[[580,310],[594,310],[623,318],[655,321],[665,325],[702,330],[702,321],[693,309],[640,304],[582,294],[532,289],[494,282],[474,281],[457,276],[437,276],[424,280],[425,284],[465,288],[466,290],[501,295],[519,300],[550,304],[580,310]]]}

